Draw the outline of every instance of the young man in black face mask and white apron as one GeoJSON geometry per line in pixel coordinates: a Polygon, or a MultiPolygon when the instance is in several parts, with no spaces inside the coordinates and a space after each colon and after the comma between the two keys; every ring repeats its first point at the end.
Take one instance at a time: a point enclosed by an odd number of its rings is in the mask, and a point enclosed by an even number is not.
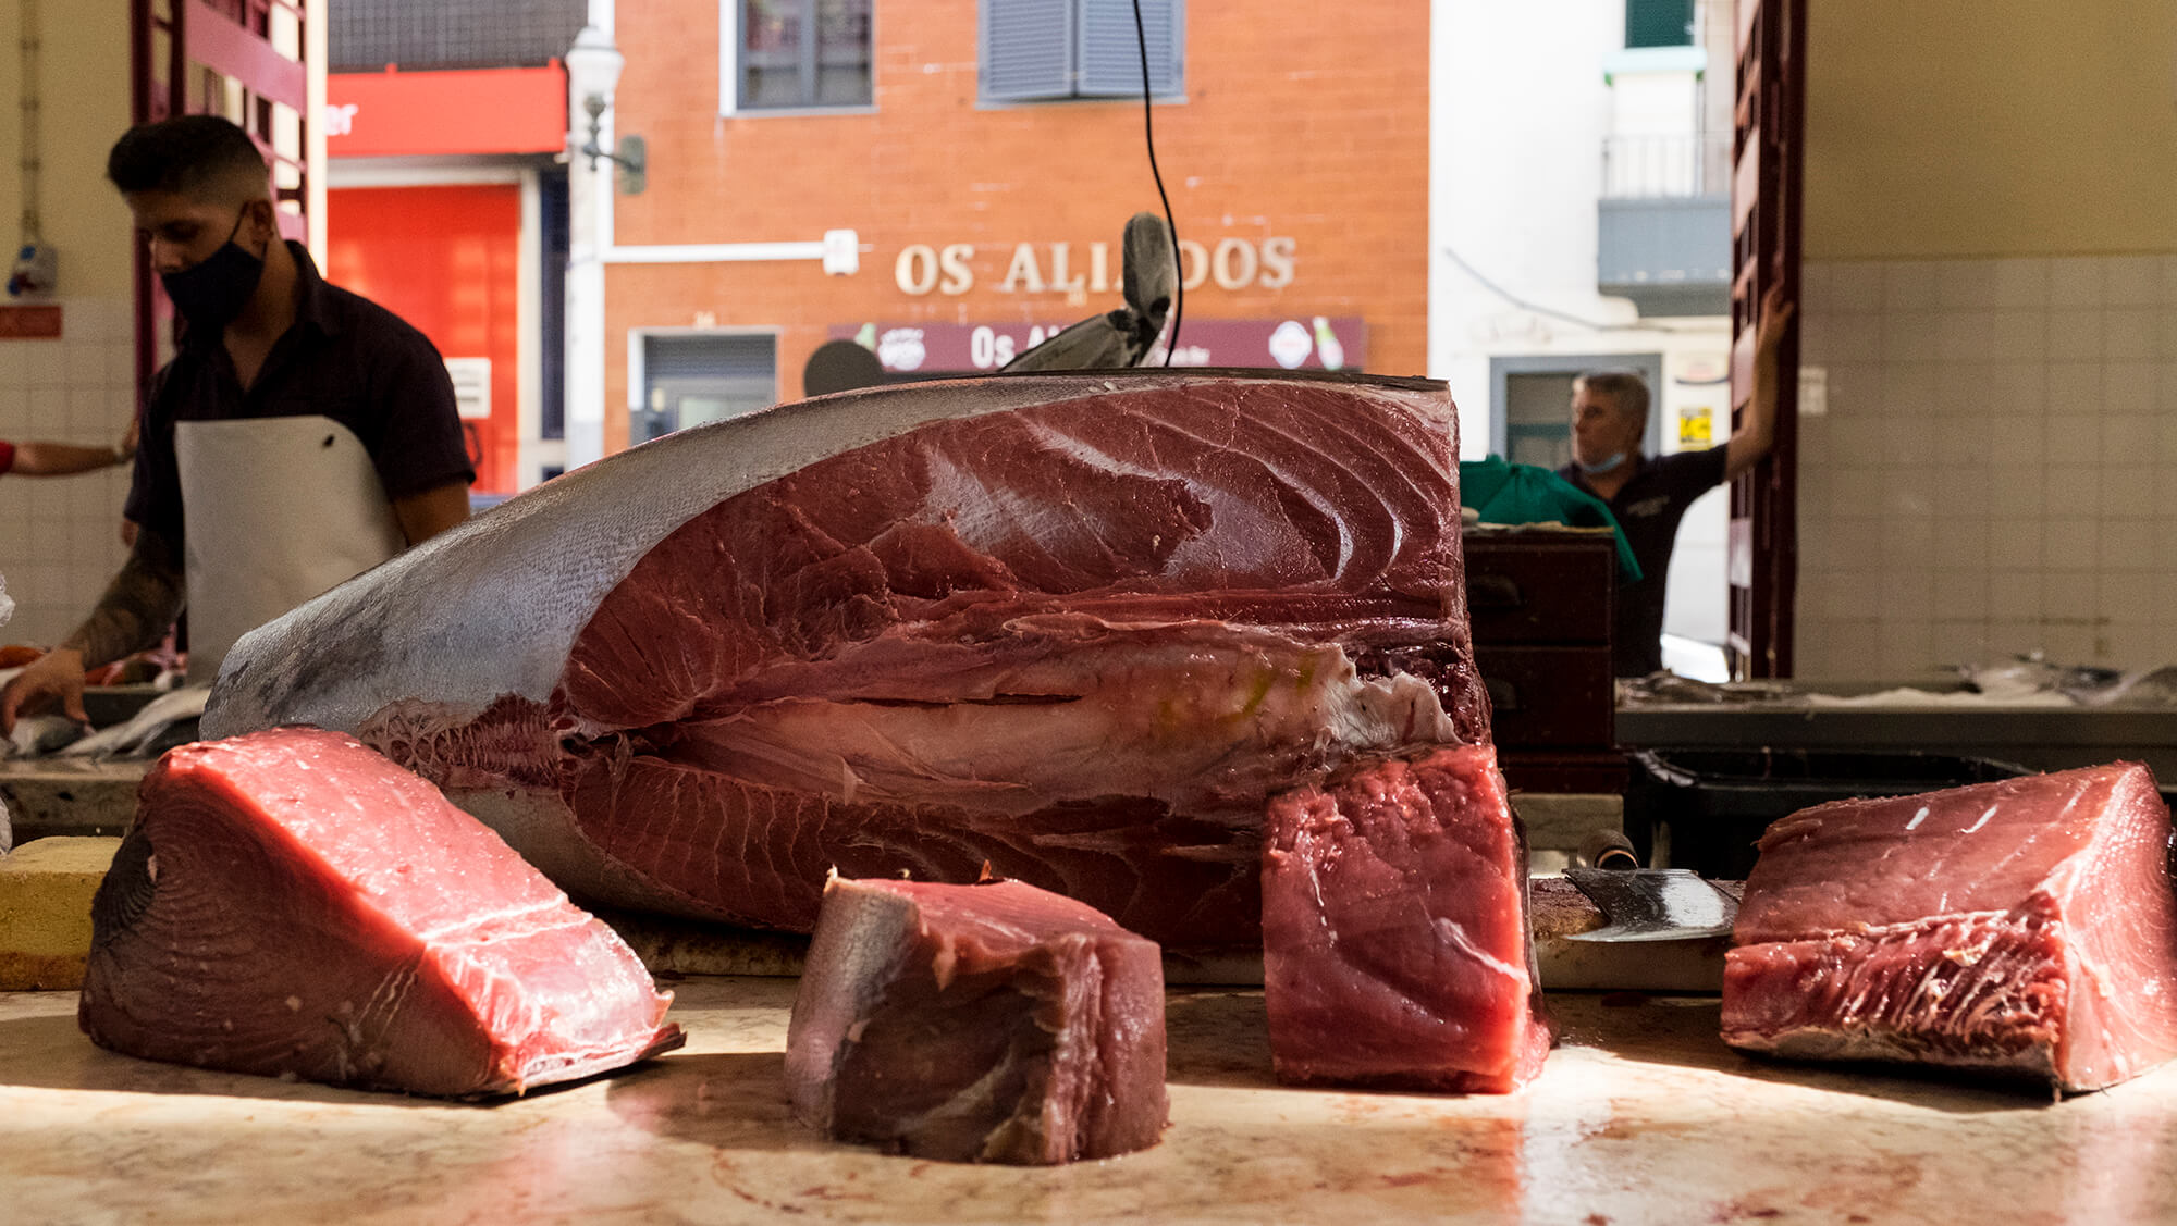
{"type": "Polygon", "coordinates": [[[0,689],[0,735],[83,670],[150,648],[189,609],[189,680],[237,637],[468,517],[453,380],[422,333],[329,285],[279,235],[270,172],[216,115],[131,128],[107,157],[183,317],[144,413],[128,561],[61,648],[0,689]]]}

